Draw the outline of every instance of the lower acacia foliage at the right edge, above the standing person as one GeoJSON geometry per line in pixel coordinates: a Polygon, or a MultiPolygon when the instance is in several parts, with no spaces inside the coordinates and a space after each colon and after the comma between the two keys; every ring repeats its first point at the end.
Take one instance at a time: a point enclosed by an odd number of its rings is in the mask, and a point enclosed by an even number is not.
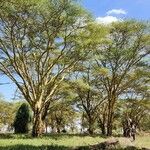
{"type": "MultiPolygon", "coordinates": [[[[149,69],[145,66],[137,70],[134,75],[132,74],[132,77],[130,77],[134,79],[132,87],[126,90],[125,100],[120,101],[122,120],[124,121],[130,118],[139,130],[142,129],[141,127],[145,122],[145,118],[150,116],[149,73],[149,69]],[[138,80],[135,80],[135,78],[138,80]]],[[[126,124],[123,125],[126,127],[126,124]]]]}

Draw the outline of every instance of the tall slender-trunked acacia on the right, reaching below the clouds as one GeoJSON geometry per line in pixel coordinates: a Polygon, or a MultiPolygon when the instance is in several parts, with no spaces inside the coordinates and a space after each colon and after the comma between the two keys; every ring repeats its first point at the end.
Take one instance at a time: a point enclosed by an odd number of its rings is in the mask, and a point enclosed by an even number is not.
{"type": "Polygon", "coordinates": [[[112,135],[117,99],[134,81],[127,77],[138,69],[138,64],[144,62],[150,53],[148,28],[137,21],[114,23],[107,36],[108,42],[95,50],[97,86],[105,91],[108,99],[107,135],[112,135]]]}

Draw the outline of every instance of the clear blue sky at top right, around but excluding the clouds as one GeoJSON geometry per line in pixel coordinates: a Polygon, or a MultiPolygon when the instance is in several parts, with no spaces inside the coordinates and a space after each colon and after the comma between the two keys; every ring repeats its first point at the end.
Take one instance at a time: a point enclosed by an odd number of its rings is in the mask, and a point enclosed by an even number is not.
{"type": "MultiPolygon", "coordinates": [[[[95,17],[104,17],[112,9],[122,9],[127,14],[117,15],[117,17],[150,19],[150,0],[82,0],[81,3],[95,17]]],[[[113,14],[113,16],[116,15],[113,14]]]]}

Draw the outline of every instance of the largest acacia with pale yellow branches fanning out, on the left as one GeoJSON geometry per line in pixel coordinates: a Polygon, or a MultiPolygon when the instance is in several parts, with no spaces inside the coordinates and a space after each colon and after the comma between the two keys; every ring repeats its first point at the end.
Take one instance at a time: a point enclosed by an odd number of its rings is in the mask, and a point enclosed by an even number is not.
{"type": "Polygon", "coordinates": [[[0,5],[0,71],[31,106],[32,135],[39,136],[61,82],[85,58],[78,41],[88,15],[71,0],[9,0],[0,5]]]}

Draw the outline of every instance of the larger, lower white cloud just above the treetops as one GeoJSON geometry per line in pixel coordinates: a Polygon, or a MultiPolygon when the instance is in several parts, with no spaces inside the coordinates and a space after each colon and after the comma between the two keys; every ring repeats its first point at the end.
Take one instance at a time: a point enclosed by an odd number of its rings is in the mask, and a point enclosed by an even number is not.
{"type": "Polygon", "coordinates": [[[122,19],[114,17],[114,16],[105,16],[96,18],[96,22],[102,24],[111,24],[112,22],[121,21],[122,19]]]}

